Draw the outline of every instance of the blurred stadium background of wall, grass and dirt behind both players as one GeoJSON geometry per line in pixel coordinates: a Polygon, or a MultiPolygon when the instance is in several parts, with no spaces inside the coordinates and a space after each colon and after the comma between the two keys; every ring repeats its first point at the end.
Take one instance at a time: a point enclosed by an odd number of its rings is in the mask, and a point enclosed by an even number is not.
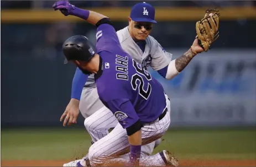
{"type": "MultiPolygon", "coordinates": [[[[71,1],[106,14],[116,30],[140,1],[71,1]]],[[[155,150],[171,150],[190,166],[256,165],[255,1],[146,1],[156,8],[151,35],[178,57],[208,7],[221,12],[220,37],[173,80],[159,79],[171,99],[171,126],[155,150]]],[[[61,166],[90,147],[77,125],[59,118],[70,100],[75,67],[64,66],[62,42],[95,41],[96,28],[51,9],[54,1],[1,1],[1,166],[61,166]]]]}

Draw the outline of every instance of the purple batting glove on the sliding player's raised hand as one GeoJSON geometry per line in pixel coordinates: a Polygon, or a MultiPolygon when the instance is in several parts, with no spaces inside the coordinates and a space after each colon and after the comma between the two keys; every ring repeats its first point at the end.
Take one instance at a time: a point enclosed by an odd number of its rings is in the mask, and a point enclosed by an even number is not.
{"type": "Polygon", "coordinates": [[[75,6],[70,4],[69,1],[59,0],[53,4],[53,8],[54,10],[60,10],[62,14],[67,16],[73,13],[75,6]]]}

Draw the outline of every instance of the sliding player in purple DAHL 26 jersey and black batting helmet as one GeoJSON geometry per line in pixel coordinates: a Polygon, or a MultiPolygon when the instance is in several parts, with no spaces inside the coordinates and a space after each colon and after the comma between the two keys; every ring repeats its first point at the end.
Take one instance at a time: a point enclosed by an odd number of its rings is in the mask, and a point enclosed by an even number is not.
{"type": "MultiPolygon", "coordinates": [[[[62,9],[63,5],[66,3],[57,2],[54,8],[66,14],[68,10],[62,9]]],[[[141,146],[163,136],[170,125],[170,101],[163,87],[124,52],[109,18],[83,12],[88,23],[97,26],[96,47],[85,36],[72,36],[64,43],[64,55],[83,73],[95,74],[98,96],[119,122],[111,133],[92,144],[88,153],[90,165],[122,161],[132,166],[177,166],[165,150],[140,160],[141,146]],[[128,160],[120,156],[128,152],[128,160]]]]}

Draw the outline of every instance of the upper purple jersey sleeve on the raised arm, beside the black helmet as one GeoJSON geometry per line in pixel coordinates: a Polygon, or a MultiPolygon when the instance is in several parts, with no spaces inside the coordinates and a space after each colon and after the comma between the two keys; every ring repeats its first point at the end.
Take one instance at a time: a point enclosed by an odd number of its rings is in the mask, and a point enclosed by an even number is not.
{"type": "Polygon", "coordinates": [[[122,49],[116,30],[112,25],[101,24],[98,26],[96,40],[97,53],[100,53],[101,51],[115,51],[117,49],[122,49]]]}

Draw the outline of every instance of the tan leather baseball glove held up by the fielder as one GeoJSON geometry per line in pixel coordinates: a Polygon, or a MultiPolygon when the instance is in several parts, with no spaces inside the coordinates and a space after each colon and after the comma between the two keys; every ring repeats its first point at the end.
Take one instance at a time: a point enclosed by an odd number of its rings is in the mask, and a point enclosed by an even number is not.
{"type": "Polygon", "coordinates": [[[219,36],[220,13],[216,9],[207,9],[205,17],[196,22],[196,34],[198,38],[198,44],[204,51],[208,51],[212,42],[217,40],[219,36]]]}

